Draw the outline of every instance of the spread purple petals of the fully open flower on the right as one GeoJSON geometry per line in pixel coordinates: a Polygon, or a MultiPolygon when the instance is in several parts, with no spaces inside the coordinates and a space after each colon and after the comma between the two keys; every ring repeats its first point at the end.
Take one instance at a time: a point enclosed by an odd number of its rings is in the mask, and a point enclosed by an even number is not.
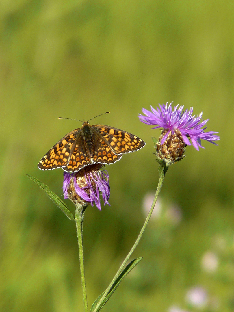
{"type": "Polygon", "coordinates": [[[166,105],[159,104],[159,107],[157,107],[156,110],[150,106],[152,112],[143,108],[142,111],[146,116],[141,114],[138,116],[140,121],[144,124],[156,125],[151,129],[163,128],[166,130],[163,133],[163,138],[160,143],[161,145],[163,145],[170,132],[174,134],[178,130],[181,133],[184,143],[191,145],[188,139],[189,137],[193,146],[197,150],[199,150],[199,147],[204,148],[201,145],[201,139],[217,145],[213,141],[219,140],[219,136],[215,135],[215,133],[218,132],[204,132],[206,129],[206,123],[209,119],[203,120],[202,112],[196,117],[195,115],[192,115],[193,107],[190,107],[190,110],[187,109],[183,111],[183,106],[180,106],[179,108],[178,105],[174,106],[174,110],[172,110],[171,105],[172,103],[168,105],[168,102],[166,105]]]}

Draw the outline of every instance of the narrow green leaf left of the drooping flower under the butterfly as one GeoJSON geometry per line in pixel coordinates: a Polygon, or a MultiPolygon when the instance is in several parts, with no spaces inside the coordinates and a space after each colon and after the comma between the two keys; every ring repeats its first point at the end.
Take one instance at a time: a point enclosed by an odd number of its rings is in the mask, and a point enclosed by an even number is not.
{"type": "Polygon", "coordinates": [[[52,200],[52,202],[54,202],[56,204],[56,206],[58,206],[61,211],[63,213],[66,214],[66,216],[71,220],[71,221],[75,221],[71,211],[68,209],[67,205],[65,204],[65,202],[63,202],[55,193],[53,193],[47,185],[45,185],[44,183],[42,183],[41,181],[39,181],[37,178],[32,177],[31,175],[27,174],[28,178],[30,178],[34,183],[36,183],[39,188],[41,188],[44,192],[46,192],[46,194],[50,197],[50,199],[52,200]]]}

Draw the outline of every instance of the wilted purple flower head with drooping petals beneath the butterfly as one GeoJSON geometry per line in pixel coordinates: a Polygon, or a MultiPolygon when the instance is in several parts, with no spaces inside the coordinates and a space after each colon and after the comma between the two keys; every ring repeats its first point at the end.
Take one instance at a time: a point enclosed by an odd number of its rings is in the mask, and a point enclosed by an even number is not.
{"type": "Polygon", "coordinates": [[[109,204],[110,185],[109,174],[101,170],[92,170],[86,172],[63,173],[63,193],[64,198],[69,198],[75,205],[77,203],[88,206],[95,203],[101,210],[100,193],[104,200],[104,205],[109,204]]]}

